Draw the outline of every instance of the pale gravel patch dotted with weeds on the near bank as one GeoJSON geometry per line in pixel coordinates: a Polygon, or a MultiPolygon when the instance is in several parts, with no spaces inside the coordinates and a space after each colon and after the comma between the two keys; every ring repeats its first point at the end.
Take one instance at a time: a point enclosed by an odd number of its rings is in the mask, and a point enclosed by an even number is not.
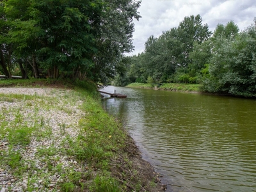
{"type": "MultiPolygon", "coordinates": [[[[31,191],[60,191],[55,188],[58,182],[65,179],[61,177],[60,170],[82,172],[81,169],[86,167],[86,164],[81,167],[81,164],[77,164],[74,159],[61,152],[67,137],[76,138],[79,133],[77,122],[84,115],[80,109],[83,101],[76,95],[72,95],[73,100],[70,100],[70,97],[67,97],[70,90],[54,88],[0,88],[0,93],[14,94],[12,97],[3,95],[0,97],[1,156],[10,156],[10,153],[19,154],[24,169],[33,170],[33,173],[28,173],[18,168],[17,172],[22,175],[17,176],[17,173],[10,169],[10,166],[14,166],[10,161],[15,159],[4,159],[9,162],[0,164],[1,192],[27,191],[28,188],[31,191]],[[26,98],[25,95],[32,95],[33,99],[26,98]],[[29,144],[25,147],[19,142],[17,145],[11,145],[6,139],[10,136],[10,130],[4,130],[11,127],[15,129],[17,126],[29,127],[31,131],[29,144]],[[52,155],[46,156],[45,154],[51,150],[52,155]],[[49,170],[47,166],[49,163],[54,167],[53,170],[49,170]],[[33,178],[29,176],[31,174],[33,178]]],[[[14,134],[12,136],[13,140],[19,141],[14,134]]]]}

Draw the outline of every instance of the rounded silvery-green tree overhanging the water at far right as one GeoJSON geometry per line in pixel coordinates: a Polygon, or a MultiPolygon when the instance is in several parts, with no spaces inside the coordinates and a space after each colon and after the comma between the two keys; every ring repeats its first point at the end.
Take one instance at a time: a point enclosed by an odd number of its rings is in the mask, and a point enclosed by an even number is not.
{"type": "Polygon", "coordinates": [[[256,95],[255,34],[252,26],[236,38],[221,35],[215,39],[205,90],[244,97],[256,95]]]}

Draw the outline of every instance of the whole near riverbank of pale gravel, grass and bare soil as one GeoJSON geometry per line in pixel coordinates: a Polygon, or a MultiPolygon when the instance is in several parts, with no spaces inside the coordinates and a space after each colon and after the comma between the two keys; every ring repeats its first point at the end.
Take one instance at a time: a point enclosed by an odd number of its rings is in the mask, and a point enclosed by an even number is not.
{"type": "Polygon", "coordinates": [[[161,191],[92,83],[0,81],[0,190],[161,191]]]}

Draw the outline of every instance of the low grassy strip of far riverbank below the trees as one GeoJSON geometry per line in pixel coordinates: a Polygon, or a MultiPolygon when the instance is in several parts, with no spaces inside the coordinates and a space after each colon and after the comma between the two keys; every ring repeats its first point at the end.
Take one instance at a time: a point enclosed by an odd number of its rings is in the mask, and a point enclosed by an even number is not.
{"type": "Polygon", "coordinates": [[[182,83],[163,83],[163,84],[151,84],[151,83],[131,83],[126,87],[130,88],[148,88],[157,90],[170,90],[173,92],[202,92],[201,84],[182,84],[182,83]]]}

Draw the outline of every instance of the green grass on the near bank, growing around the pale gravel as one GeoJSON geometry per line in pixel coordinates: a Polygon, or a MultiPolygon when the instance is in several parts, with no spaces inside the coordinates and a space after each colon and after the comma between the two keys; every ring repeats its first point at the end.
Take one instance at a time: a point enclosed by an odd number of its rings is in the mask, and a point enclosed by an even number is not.
{"type": "MultiPolygon", "coordinates": [[[[83,100],[79,109],[84,112],[84,116],[77,122],[78,136],[70,138],[65,134],[65,125],[60,125],[60,133],[63,136],[61,146],[38,148],[35,153],[38,159],[44,159],[46,173],[44,169],[38,170],[35,162],[30,162],[28,166],[26,159],[22,157],[22,152],[26,152],[29,143],[35,138],[39,141],[51,140],[51,127],[42,131],[45,122],[36,113],[31,114],[34,119],[31,124],[24,116],[20,116],[19,111],[10,121],[6,116],[10,115],[13,109],[0,109],[0,142],[4,143],[5,148],[0,150],[0,169],[8,170],[8,173],[15,175],[17,180],[22,180],[24,174],[27,175],[28,191],[38,189],[33,185],[33,182],[38,180],[41,180],[45,189],[50,191],[159,191],[161,189],[153,173],[154,170],[150,164],[140,158],[138,148],[122,125],[102,109],[99,93],[95,91],[92,83],[78,82],[74,86],[67,82],[49,80],[1,80],[1,86],[68,88],[72,89],[72,92],[63,97],[66,106],[83,100]],[[58,156],[54,156],[55,154],[58,156]],[[61,163],[56,163],[61,157],[76,159],[76,167],[78,166],[79,170],[77,171],[73,166],[63,168],[61,163]],[[38,174],[35,174],[35,171],[38,174]],[[43,173],[47,174],[46,177],[41,177],[43,173]],[[61,179],[52,187],[47,178],[56,173],[60,173],[61,179]]],[[[54,102],[58,101],[53,97],[36,95],[24,97],[22,94],[0,93],[0,102],[6,101],[13,103],[22,101],[28,108],[34,103],[37,108],[56,108],[60,111],[65,108],[65,106],[54,106],[54,102]]]]}

